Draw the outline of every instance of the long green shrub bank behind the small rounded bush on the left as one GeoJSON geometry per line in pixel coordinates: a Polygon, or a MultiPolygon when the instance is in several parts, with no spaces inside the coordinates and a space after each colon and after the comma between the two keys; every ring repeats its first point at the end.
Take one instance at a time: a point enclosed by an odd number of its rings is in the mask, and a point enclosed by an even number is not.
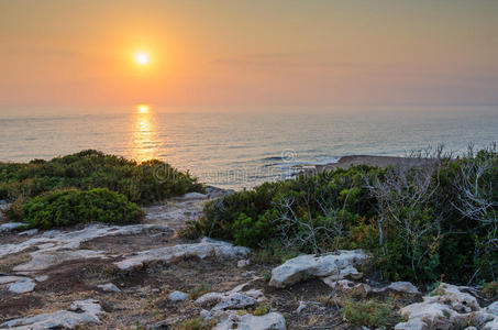
{"type": "Polygon", "coordinates": [[[143,163],[87,150],[51,161],[0,163],[0,199],[64,189],[108,188],[143,205],[189,191],[203,191],[190,174],[152,160],[143,163]]]}

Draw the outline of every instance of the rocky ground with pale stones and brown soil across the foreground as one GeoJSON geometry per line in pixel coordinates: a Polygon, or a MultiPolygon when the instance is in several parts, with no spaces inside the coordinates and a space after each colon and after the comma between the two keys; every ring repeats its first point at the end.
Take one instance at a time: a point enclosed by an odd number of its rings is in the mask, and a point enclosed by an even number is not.
{"type": "Polygon", "coordinates": [[[423,295],[409,283],[374,283],[359,272],[368,264],[362,251],[256,264],[248,249],[178,238],[222,194],[148,207],[136,226],[0,224],[0,328],[362,329],[341,314],[355,297],[391,301],[398,330],[498,329],[498,302],[449,284],[423,295]]]}

